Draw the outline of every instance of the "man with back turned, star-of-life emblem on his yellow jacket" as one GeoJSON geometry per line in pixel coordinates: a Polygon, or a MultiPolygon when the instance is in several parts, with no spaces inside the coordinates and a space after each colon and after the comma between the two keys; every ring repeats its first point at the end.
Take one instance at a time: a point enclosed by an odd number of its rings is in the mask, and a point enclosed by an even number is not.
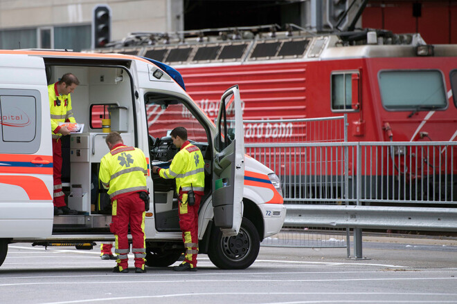
{"type": "Polygon", "coordinates": [[[113,272],[129,272],[127,234],[130,224],[135,272],[143,273],[146,272],[145,202],[141,196],[147,193],[147,161],[143,151],[125,146],[117,132],[109,133],[106,142],[110,151],[100,162],[98,178],[108,189],[113,205],[109,229],[116,238],[115,252],[118,254],[113,272]]]}

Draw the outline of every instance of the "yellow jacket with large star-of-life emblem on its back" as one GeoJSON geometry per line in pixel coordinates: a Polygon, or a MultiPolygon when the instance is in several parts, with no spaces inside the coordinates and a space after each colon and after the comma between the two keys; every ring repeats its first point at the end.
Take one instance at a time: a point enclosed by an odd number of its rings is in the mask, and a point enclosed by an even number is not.
{"type": "Polygon", "coordinates": [[[147,161],[143,151],[132,146],[116,144],[100,161],[98,178],[108,189],[109,198],[125,193],[147,191],[147,161]]]}

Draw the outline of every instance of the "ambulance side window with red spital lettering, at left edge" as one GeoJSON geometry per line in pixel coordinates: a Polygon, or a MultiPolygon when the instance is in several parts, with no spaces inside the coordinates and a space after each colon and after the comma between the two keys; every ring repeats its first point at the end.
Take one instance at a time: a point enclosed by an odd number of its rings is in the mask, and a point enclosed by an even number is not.
{"type": "Polygon", "coordinates": [[[0,153],[37,152],[41,113],[39,91],[0,89],[0,153]]]}

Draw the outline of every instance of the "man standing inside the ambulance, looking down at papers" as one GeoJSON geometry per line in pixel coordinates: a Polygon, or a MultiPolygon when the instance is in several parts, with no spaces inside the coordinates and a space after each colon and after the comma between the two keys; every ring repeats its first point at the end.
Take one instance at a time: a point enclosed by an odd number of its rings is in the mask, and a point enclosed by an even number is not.
{"type": "Polygon", "coordinates": [[[69,135],[66,126],[59,126],[59,122],[76,122],[71,108],[70,93],[80,84],[78,78],[66,73],[55,84],[48,85],[49,108],[51,108],[51,131],[53,136],[53,178],[54,178],[54,215],[76,214],[75,210],[65,205],[62,191],[62,135],[69,135]]]}

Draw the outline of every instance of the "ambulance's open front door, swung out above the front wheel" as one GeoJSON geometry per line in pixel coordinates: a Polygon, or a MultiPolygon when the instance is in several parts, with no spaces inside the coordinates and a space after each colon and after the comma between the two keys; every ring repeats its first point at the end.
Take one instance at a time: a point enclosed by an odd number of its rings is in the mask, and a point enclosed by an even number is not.
{"type": "Polygon", "coordinates": [[[215,227],[235,236],[243,216],[244,130],[238,85],[222,95],[213,139],[213,211],[215,227]]]}

